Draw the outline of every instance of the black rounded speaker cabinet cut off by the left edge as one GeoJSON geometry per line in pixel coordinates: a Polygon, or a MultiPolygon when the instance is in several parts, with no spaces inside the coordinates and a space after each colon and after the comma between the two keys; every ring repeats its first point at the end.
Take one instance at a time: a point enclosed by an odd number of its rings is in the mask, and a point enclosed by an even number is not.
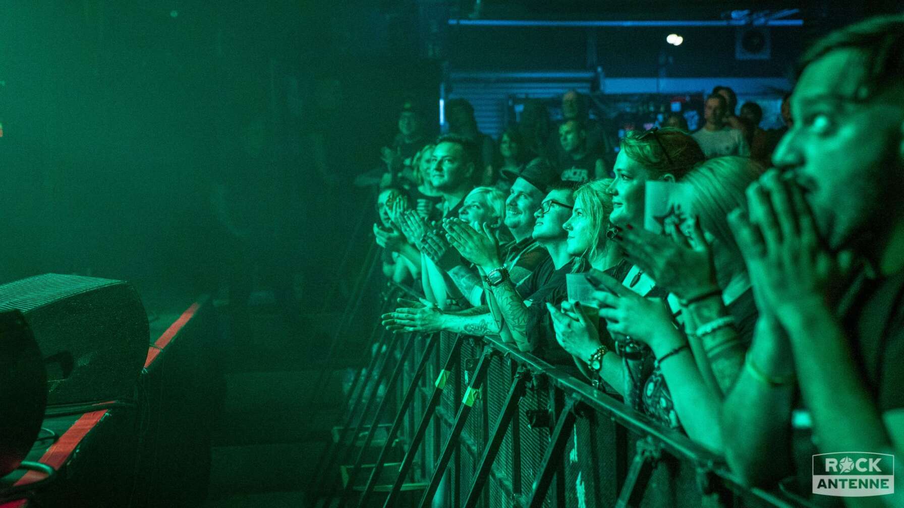
{"type": "Polygon", "coordinates": [[[0,477],[32,449],[47,405],[41,351],[19,311],[0,312],[0,477]]]}

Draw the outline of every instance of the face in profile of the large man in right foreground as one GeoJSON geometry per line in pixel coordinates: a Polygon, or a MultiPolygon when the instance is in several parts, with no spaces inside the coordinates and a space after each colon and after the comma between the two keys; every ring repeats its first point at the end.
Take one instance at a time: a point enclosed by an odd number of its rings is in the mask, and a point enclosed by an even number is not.
{"type": "Polygon", "coordinates": [[[773,155],[775,165],[795,172],[832,249],[901,210],[904,107],[899,95],[889,99],[901,89],[857,100],[865,76],[865,61],[852,49],[833,50],[808,65],[790,100],[794,124],[773,155]]]}

